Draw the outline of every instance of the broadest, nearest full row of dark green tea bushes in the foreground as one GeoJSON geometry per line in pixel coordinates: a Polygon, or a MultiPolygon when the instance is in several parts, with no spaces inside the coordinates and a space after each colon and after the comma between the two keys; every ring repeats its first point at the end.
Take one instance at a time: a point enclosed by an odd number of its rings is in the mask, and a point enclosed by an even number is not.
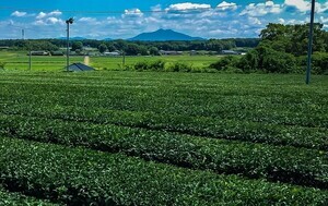
{"type": "Polygon", "coordinates": [[[327,191],[0,137],[5,187],[69,205],[325,205],[327,191]]]}

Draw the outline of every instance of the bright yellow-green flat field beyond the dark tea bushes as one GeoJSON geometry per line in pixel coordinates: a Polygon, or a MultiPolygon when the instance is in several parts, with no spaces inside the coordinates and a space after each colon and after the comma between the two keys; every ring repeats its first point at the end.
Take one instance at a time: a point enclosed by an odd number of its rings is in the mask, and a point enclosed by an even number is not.
{"type": "MultiPolygon", "coordinates": [[[[127,56],[125,57],[125,68],[131,68],[137,62],[165,61],[168,64],[180,62],[194,68],[207,68],[211,63],[220,60],[218,56],[127,56]]],[[[71,56],[70,63],[83,63],[83,56],[71,56]]],[[[96,70],[122,70],[122,57],[90,57],[90,65],[96,70]]],[[[0,63],[4,63],[4,69],[10,71],[28,71],[30,58],[24,51],[0,51],[0,63]]],[[[63,71],[66,68],[66,56],[32,56],[32,71],[63,71]]]]}

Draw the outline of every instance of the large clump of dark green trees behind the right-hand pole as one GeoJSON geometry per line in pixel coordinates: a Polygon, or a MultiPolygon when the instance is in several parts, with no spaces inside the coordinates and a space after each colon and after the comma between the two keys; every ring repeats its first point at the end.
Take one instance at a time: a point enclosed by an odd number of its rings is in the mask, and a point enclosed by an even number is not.
{"type": "MultiPolygon", "coordinates": [[[[304,73],[307,60],[309,24],[269,24],[260,33],[260,43],[243,58],[225,57],[211,64],[216,70],[304,73]]],[[[328,74],[328,32],[314,26],[313,73],[328,74]]]]}

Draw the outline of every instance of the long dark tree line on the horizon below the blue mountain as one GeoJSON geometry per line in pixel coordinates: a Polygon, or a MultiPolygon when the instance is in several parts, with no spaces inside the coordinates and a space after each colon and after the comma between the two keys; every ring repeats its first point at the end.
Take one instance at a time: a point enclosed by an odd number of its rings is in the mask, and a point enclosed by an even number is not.
{"type": "MultiPolygon", "coordinates": [[[[97,48],[101,52],[124,51],[128,56],[160,54],[160,50],[190,51],[206,50],[220,53],[222,50],[229,50],[236,47],[256,47],[259,44],[258,38],[230,38],[230,39],[209,39],[192,41],[128,41],[128,40],[71,40],[72,50],[81,50],[83,47],[97,48]]],[[[0,47],[7,46],[16,50],[47,50],[57,51],[65,48],[65,39],[2,39],[0,47]]]]}

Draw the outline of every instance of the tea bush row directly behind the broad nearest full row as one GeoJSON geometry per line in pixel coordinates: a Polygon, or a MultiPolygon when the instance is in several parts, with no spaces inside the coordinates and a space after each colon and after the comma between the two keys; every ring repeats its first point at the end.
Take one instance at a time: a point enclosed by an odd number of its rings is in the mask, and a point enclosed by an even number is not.
{"type": "Polygon", "coordinates": [[[325,152],[316,149],[19,116],[0,117],[0,135],[120,152],[179,167],[328,189],[328,159],[325,152]]]}

